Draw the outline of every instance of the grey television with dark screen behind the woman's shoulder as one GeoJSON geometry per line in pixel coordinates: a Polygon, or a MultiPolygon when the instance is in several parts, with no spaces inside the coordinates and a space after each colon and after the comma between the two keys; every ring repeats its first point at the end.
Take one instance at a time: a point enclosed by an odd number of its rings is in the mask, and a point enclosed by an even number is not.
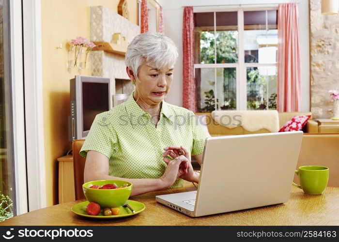
{"type": "Polygon", "coordinates": [[[109,78],[75,76],[70,79],[70,140],[84,139],[97,114],[110,108],[109,78]]]}

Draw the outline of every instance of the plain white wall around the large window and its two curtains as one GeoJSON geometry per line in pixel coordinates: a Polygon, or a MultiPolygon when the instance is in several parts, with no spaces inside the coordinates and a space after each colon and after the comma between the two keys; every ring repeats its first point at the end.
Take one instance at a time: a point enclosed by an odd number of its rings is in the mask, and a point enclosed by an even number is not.
{"type": "MultiPolygon", "coordinates": [[[[320,0],[319,0],[320,1],[320,0]]],[[[295,0],[158,0],[164,11],[165,34],[177,45],[179,58],[174,66],[174,79],[167,102],[182,106],[183,99],[183,8],[182,6],[203,6],[223,4],[274,4],[277,2],[296,2],[295,0]]],[[[262,7],[264,5],[257,5],[262,7]]],[[[234,6],[230,6],[234,7],[234,6]]],[[[299,33],[301,51],[302,101],[301,111],[309,111],[309,38],[308,38],[308,1],[299,0],[299,33]]]]}

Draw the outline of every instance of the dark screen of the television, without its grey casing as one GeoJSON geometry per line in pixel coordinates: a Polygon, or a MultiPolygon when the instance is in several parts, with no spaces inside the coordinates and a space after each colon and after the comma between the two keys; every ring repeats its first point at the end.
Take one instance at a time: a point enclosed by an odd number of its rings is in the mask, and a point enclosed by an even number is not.
{"type": "Polygon", "coordinates": [[[108,83],[82,83],[82,124],[83,132],[91,129],[97,114],[108,111],[108,83]]]}

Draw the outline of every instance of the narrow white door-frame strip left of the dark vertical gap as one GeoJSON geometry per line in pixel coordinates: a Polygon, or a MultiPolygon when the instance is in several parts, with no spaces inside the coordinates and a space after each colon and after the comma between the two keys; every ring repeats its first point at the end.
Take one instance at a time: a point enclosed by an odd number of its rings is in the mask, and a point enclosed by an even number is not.
{"type": "Polygon", "coordinates": [[[13,133],[13,159],[15,180],[15,214],[28,212],[27,174],[26,174],[26,136],[25,136],[25,106],[23,81],[22,52],[22,9],[21,1],[4,0],[9,13],[4,19],[4,29],[8,33],[4,39],[4,63],[11,89],[11,106],[13,133]],[[9,27],[9,29],[8,29],[9,27]],[[9,48],[8,48],[9,46],[9,48]]]}

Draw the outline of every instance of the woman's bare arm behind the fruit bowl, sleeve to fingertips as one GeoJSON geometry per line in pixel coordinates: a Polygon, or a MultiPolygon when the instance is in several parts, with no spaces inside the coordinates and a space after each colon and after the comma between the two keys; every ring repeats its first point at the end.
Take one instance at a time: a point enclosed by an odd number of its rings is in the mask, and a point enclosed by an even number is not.
{"type": "Polygon", "coordinates": [[[164,174],[157,179],[128,179],[109,176],[108,157],[98,151],[88,151],[84,170],[84,181],[105,179],[129,181],[133,183],[131,196],[137,196],[139,194],[169,188],[179,176],[185,173],[184,169],[179,168],[182,162],[188,162],[183,155],[179,157],[178,160],[168,164],[164,174]]]}

